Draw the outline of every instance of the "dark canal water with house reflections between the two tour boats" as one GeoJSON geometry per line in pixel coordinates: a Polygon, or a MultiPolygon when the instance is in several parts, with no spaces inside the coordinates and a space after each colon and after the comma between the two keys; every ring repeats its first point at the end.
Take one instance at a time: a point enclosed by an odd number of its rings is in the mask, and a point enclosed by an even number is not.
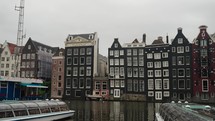
{"type": "Polygon", "coordinates": [[[159,103],[127,101],[70,101],[75,115],[67,121],[154,121],[159,103]]]}

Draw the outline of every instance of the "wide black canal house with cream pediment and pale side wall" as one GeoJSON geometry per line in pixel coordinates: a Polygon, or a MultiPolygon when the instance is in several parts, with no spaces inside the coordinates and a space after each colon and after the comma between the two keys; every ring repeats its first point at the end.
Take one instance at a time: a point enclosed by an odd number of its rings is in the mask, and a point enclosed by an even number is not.
{"type": "Polygon", "coordinates": [[[64,99],[85,99],[93,94],[98,76],[99,38],[96,32],[69,34],[65,41],[64,99]]]}

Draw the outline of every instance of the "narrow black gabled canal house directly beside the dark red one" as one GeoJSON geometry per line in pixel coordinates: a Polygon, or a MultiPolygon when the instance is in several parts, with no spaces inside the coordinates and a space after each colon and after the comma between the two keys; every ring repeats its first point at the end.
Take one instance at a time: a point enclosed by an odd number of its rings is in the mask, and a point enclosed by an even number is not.
{"type": "Polygon", "coordinates": [[[192,96],[192,45],[178,28],[171,44],[172,100],[190,101],[192,96]]]}

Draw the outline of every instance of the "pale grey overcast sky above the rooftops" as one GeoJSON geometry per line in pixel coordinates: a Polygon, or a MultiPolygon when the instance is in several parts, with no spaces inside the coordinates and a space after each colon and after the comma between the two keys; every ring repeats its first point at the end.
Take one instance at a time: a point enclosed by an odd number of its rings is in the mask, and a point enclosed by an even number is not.
{"type": "MultiPolygon", "coordinates": [[[[20,0],[0,0],[0,43],[16,43],[20,0]]],[[[107,56],[114,38],[121,44],[146,43],[168,34],[173,39],[177,28],[191,42],[200,25],[215,33],[215,0],[25,0],[24,31],[27,39],[65,47],[68,34],[97,32],[100,53],[107,56]]]]}

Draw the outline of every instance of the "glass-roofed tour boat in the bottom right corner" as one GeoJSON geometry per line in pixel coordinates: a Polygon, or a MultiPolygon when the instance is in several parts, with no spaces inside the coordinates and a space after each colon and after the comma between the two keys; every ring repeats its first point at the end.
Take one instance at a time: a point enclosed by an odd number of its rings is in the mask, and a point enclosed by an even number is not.
{"type": "Polygon", "coordinates": [[[164,103],[156,121],[214,121],[215,108],[195,103],[164,103]]]}

